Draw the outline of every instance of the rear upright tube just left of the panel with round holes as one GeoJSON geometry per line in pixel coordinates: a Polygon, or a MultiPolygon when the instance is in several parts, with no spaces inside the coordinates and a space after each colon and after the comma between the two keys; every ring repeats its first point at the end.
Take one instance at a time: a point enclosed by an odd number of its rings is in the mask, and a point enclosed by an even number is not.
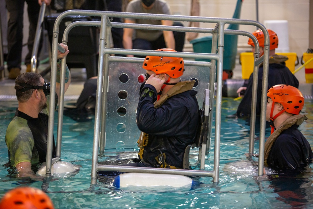
{"type": "MultiPolygon", "coordinates": [[[[105,27],[105,45],[110,46],[110,35],[111,27],[105,27]]],[[[105,49],[104,49],[105,53],[105,49]]],[[[102,112],[101,112],[101,135],[100,135],[100,154],[104,153],[105,149],[105,136],[106,136],[106,106],[107,106],[107,95],[109,91],[109,57],[110,54],[104,55],[104,83],[103,83],[103,92],[102,92],[102,112]]]]}

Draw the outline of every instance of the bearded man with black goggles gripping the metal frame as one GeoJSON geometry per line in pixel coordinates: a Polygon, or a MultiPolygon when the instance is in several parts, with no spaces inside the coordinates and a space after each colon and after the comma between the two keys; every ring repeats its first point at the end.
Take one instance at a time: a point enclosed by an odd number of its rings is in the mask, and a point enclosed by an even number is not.
{"type": "MultiPolygon", "coordinates": [[[[58,51],[58,59],[64,58],[69,53],[68,46],[61,45],[65,52],[58,51]]],[[[58,60],[56,100],[60,90],[60,65],[61,60],[58,60]]],[[[66,67],[65,91],[70,81],[69,69],[66,67]]],[[[16,167],[18,175],[33,176],[31,165],[46,161],[50,84],[47,84],[40,74],[26,72],[16,78],[14,88],[18,108],[8,125],[5,142],[8,146],[10,163],[16,167]]],[[[54,144],[53,157],[55,150],[54,144]]]]}

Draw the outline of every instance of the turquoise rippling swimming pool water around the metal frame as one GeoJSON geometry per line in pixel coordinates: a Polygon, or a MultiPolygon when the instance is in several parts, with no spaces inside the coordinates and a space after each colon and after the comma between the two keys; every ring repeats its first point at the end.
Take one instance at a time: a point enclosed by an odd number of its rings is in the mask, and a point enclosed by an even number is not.
{"type": "MultiPolygon", "coordinates": [[[[300,130],[313,144],[313,100],[306,99],[303,114],[308,120],[300,130]]],[[[213,184],[211,177],[196,177],[201,182],[192,190],[170,188],[115,189],[104,179],[90,186],[94,118],[77,122],[64,116],[61,158],[81,166],[76,174],[53,177],[49,185],[29,178],[17,178],[5,164],[8,152],[5,131],[14,116],[17,102],[1,102],[0,107],[0,197],[20,185],[28,185],[48,192],[55,208],[312,208],[313,164],[294,175],[257,176],[256,166],[248,161],[249,122],[226,118],[236,112],[239,101],[223,98],[220,176],[213,184]],[[279,176],[279,177],[278,177],[279,176]]],[[[57,119],[57,112],[55,121],[57,119]]],[[[214,126],[213,126],[214,128],[214,126]]],[[[56,125],[55,129],[56,130],[56,125]]],[[[214,134],[214,130],[213,130],[214,134]]],[[[266,137],[270,128],[266,129],[266,137]]],[[[56,133],[54,134],[56,136],[56,133]]],[[[254,152],[258,153],[258,133],[254,152]]],[[[214,138],[214,137],[213,137],[214,138]]],[[[213,169],[213,148],[207,155],[206,169],[213,169]]],[[[99,160],[135,157],[137,150],[106,150],[99,160]],[[118,152],[117,152],[118,151],[118,152]],[[121,152],[122,151],[122,152],[121,152]]],[[[191,150],[191,163],[196,162],[198,150],[191,150]]],[[[257,159],[254,159],[257,161],[257,159]]],[[[267,172],[271,172],[267,170],[267,172]]]]}

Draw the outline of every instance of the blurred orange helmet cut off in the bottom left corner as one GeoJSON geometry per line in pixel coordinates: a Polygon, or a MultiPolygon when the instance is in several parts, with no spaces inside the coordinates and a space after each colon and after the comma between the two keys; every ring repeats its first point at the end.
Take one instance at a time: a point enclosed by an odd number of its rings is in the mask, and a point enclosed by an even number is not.
{"type": "Polygon", "coordinates": [[[3,196],[0,208],[54,209],[54,206],[49,196],[43,191],[33,187],[18,187],[3,196]]]}

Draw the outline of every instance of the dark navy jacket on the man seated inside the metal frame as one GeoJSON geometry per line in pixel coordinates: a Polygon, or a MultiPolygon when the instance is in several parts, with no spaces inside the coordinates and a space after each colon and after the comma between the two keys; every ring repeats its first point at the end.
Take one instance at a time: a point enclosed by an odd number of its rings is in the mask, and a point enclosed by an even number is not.
{"type": "Polygon", "coordinates": [[[168,98],[154,108],[157,99],[154,86],[145,84],[137,107],[138,128],[149,134],[143,160],[158,167],[156,157],[165,153],[168,165],[182,168],[185,148],[196,138],[199,107],[196,91],[190,90],[168,98]],[[147,91],[148,90],[148,91],[147,91]],[[143,93],[146,92],[146,93],[143,93]],[[158,150],[160,149],[160,151],[158,150]]]}

